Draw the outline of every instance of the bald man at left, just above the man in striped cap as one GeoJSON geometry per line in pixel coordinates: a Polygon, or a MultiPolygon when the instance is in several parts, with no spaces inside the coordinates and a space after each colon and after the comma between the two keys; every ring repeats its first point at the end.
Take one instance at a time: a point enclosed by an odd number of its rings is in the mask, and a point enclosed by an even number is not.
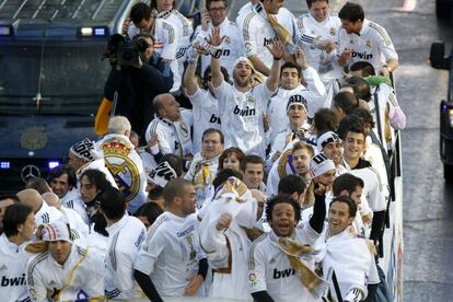
{"type": "Polygon", "coordinates": [[[27,188],[18,193],[21,204],[27,205],[35,213],[36,225],[50,223],[61,217],[61,212],[44,202],[43,197],[35,189],[27,188]]]}

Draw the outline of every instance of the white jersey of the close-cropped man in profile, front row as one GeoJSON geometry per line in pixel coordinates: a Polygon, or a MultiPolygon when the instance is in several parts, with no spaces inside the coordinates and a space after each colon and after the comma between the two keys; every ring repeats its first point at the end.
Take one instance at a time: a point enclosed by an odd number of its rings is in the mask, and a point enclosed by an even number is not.
{"type": "Polygon", "coordinates": [[[148,230],[135,269],[150,275],[160,295],[184,295],[204,258],[199,245],[199,222],[163,212],[148,230]]]}

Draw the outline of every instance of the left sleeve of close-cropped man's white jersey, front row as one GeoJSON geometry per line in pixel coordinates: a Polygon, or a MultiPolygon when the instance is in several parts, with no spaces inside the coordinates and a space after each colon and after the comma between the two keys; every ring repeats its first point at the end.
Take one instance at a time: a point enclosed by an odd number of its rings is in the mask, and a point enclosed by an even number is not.
{"type": "Polygon", "coordinates": [[[165,246],[164,234],[158,229],[161,223],[162,220],[155,221],[150,228],[147,240],[141,246],[136,263],[133,264],[135,269],[146,275],[150,275],[153,271],[154,264],[165,246]]]}

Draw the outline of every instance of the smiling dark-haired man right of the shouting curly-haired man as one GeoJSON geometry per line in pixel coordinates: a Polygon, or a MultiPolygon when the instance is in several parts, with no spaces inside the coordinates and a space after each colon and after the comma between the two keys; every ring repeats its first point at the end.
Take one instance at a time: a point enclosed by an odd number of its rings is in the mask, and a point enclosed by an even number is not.
{"type": "Polygon", "coordinates": [[[374,277],[375,264],[372,249],[364,239],[348,232],[357,212],[356,202],[347,196],[335,197],[328,209],[328,230],[324,257],[324,278],[335,271],[330,294],[336,301],[362,301],[368,295],[367,286],[374,277]]]}

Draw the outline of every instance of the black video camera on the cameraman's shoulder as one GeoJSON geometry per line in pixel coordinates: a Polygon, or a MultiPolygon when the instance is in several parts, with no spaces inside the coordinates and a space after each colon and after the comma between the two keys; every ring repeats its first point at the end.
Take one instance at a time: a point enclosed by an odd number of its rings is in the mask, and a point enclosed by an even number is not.
{"type": "Polygon", "coordinates": [[[148,46],[148,43],[143,39],[133,40],[128,36],[115,34],[108,39],[104,58],[108,58],[112,65],[138,67],[140,53],[143,53],[148,46]]]}

